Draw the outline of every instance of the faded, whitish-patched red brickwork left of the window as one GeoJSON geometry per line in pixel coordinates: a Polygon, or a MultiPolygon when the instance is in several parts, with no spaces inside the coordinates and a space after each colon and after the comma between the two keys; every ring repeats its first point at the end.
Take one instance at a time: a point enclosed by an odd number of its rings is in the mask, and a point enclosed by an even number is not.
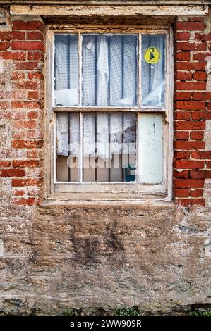
{"type": "Polygon", "coordinates": [[[11,179],[11,204],[36,205],[42,199],[44,24],[14,20],[0,31],[0,120],[9,122],[11,139],[0,146],[0,177],[11,179]],[[5,84],[4,84],[5,80],[5,84]]]}

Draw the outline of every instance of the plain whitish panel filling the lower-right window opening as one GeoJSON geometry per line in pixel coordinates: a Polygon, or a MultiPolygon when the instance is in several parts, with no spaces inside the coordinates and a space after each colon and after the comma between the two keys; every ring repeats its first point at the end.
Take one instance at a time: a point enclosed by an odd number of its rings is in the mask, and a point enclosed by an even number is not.
{"type": "Polygon", "coordinates": [[[138,161],[140,182],[163,180],[163,116],[143,113],[139,118],[138,161]]]}

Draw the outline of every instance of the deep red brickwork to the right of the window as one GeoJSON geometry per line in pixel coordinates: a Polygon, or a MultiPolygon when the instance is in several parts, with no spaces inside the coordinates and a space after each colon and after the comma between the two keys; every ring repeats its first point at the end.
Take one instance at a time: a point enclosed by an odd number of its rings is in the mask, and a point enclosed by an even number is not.
{"type": "Polygon", "coordinates": [[[204,18],[177,21],[174,33],[174,197],[188,206],[205,206],[205,178],[211,177],[211,151],[205,151],[206,120],[211,120],[205,58],[211,32],[204,18]]]}

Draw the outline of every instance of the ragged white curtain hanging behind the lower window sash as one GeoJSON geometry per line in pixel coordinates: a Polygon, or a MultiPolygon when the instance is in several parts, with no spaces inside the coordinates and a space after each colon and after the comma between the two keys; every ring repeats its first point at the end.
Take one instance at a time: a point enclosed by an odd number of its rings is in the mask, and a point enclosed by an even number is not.
{"type": "MultiPolygon", "coordinates": [[[[83,156],[100,156],[107,161],[114,154],[135,154],[135,130],[135,113],[84,113],[83,156]]],[[[68,156],[69,151],[71,156],[79,156],[78,113],[69,115],[69,125],[68,114],[57,113],[56,142],[58,155],[68,156]]]]}

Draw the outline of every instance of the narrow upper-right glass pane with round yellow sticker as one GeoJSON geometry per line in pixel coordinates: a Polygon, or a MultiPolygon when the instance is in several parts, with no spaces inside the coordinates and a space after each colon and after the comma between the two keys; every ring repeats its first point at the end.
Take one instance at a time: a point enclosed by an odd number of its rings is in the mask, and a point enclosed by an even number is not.
{"type": "Polygon", "coordinates": [[[165,35],[142,36],[142,106],[164,107],[165,35]]]}

